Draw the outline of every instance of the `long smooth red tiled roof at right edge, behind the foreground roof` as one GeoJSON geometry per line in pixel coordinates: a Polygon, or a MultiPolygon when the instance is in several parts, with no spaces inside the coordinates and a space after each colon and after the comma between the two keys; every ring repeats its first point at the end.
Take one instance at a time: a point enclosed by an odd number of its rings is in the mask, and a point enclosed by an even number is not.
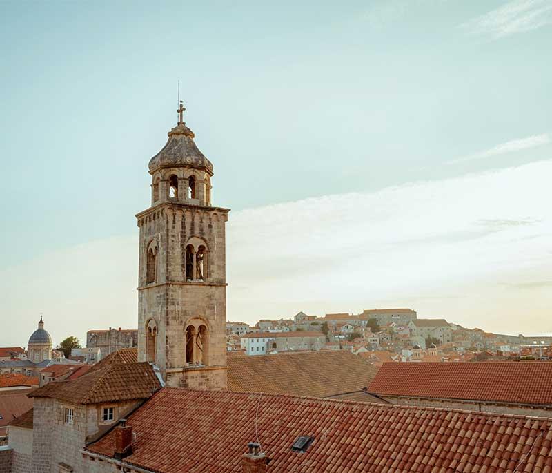
{"type": "Polygon", "coordinates": [[[384,363],[368,392],[552,405],[552,363],[384,363]]]}

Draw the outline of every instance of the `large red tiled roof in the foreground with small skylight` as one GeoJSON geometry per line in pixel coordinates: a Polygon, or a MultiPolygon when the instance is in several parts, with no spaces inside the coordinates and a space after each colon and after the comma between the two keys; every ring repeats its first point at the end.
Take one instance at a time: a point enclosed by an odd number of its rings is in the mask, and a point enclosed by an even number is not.
{"type": "MultiPolygon", "coordinates": [[[[552,419],[274,394],[164,388],[128,418],[124,462],[151,471],[241,472],[256,440],[268,472],[549,472],[552,419]],[[256,422],[255,422],[256,421],[256,422]],[[313,436],[305,453],[297,437],[313,436]],[[531,454],[528,454],[531,453],[531,454]]],[[[112,456],[115,432],[86,450],[112,456]]]]}

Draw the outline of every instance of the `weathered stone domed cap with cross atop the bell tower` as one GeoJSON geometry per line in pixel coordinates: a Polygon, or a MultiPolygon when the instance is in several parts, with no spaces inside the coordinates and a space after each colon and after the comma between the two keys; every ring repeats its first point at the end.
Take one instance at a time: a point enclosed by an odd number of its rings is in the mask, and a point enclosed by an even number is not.
{"type": "Polygon", "coordinates": [[[154,173],[159,168],[174,168],[179,166],[205,169],[213,175],[213,164],[197,148],[194,142],[194,133],[182,120],[182,113],[186,110],[180,104],[177,112],[180,114],[179,122],[175,128],[168,132],[168,140],[154,157],[151,158],[149,169],[154,173]]]}

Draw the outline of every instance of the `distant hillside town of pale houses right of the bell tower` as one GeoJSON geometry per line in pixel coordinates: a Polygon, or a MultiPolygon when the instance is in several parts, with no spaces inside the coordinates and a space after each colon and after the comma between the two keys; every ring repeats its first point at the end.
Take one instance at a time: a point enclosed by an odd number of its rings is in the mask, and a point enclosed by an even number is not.
{"type": "Polygon", "coordinates": [[[226,323],[228,354],[346,350],[384,361],[472,361],[552,359],[552,334],[517,336],[468,329],[443,318],[417,318],[412,309],[370,309],[359,314],[326,313],[226,323]]]}

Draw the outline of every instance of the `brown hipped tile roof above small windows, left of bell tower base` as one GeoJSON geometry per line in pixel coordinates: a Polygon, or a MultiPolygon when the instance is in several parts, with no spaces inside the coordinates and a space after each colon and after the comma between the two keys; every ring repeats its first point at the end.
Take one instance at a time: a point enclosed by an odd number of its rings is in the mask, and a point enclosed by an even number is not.
{"type": "Polygon", "coordinates": [[[52,381],[35,389],[29,397],[97,404],[148,398],[158,388],[159,380],[149,363],[112,363],[90,369],[75,380],[52,381]]]}

